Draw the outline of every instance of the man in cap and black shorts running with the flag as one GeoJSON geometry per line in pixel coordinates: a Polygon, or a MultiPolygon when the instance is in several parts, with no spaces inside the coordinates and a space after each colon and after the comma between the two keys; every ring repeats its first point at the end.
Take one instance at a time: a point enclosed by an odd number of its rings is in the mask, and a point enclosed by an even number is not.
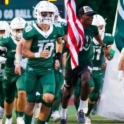
{"type": "Polygon", "coordinates": [[[104,50],[105,55],[107,57],[110,57],[109,50],[106,48],[105,44],[103,44],[97,27],[91,25],[94,14],[96,14],[96,12],[94,12],[89,6],[81,7],[79,10],[79,18],[84,27],[84,32],[85,32],[85,44],[83,50],[78,54],[79,66],[77,66],[73,70],[71,69],[70,66],[71,64],[70,64],[69,52],[67,54],[66,73],[65,73],[66,84],[64,85],[64,91],[62,96],[62,111],[61,111],[61,121],[60,121],[61,124],[67,123],[68,101],[72,95],[78,77],[81,78],[81,100],[77,115],[79,122],[85,122],[82,105],[87,100],[89,93],[90,75],[92,71],[91,61],[93,57],[93,46],[92,46],[93,37],[97,39],[102,49],[104,50]]]}

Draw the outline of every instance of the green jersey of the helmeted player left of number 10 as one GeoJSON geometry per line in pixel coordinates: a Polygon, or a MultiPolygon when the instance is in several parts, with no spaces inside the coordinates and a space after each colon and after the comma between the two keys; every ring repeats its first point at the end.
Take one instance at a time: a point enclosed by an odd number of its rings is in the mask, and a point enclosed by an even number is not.
{"type": "Polygon", "coordinates": [[[5,58],[7,58],[5,62],[5,67],[13,69],[14,66],[14,60],[15,60],[15,52],[16,52],[16,45],[17,41],[14,40],[14,38],[10,35],[4,35],[3,37],[0,37],[0,47],[5,47],[7,49],[7,52],[5,53],[5,58]]]}

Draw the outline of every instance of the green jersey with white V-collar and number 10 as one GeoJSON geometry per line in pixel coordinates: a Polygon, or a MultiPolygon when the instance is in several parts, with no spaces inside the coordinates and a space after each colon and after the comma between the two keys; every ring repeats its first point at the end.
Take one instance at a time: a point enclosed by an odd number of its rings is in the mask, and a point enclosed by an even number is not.
{"type": "Polygon", "coordinates": [[[52,67],[56,41],[63,35],[63,28],[57,25],[50,26],[50,29],[47,32],[43,32],[35,23],[27,25],[23,30],[23,38],[25,40],[33,40],[31,51],[34,53],[41,52],[43,50],[50,51],[50,55],[47,58],[28,59],[28,65],[35,68],[52,67]]]}

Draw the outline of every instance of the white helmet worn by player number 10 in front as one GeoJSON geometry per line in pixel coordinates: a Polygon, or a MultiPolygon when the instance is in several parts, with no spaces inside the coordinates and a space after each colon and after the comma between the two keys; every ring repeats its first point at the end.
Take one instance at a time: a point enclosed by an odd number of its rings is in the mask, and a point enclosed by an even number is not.
{"type": "Polygon", "coordinates": [[[48,1],[41,1],[35,7],[35,16],[37,18],[38,23],[51,25],[54,23],[54,13],[55,10],[53,8],[53,4],[48,1]],[[51,17],[45,17],[41,13],[42,12],[51,12],[51,17]]]}

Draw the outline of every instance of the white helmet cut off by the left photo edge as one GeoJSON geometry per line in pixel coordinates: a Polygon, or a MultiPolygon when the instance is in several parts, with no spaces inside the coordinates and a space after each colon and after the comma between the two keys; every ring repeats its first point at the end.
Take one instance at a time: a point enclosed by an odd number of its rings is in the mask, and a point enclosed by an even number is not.
{"type": "Polygon", "coordinates": [[[10,26],[9,26],[8,22],[0,21],[0,30],[5,30],[5,34],[0,34],[0,36],[9,35],[9,33],[10,33],[10,26]]]}

